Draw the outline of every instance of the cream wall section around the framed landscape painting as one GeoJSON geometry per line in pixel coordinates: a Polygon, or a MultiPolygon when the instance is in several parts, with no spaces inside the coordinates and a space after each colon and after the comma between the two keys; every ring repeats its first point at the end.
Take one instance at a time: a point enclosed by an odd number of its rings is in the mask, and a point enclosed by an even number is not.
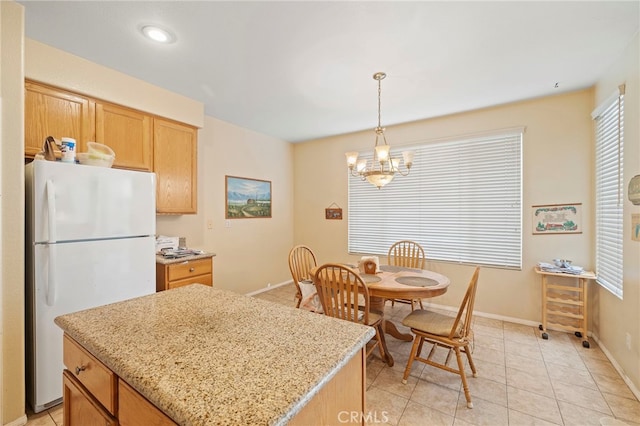
{"type": "Polygon", "coordinates": [[[215,253],[218,288],[245,294],[290,280],[292,164],[291,144],[205,117],[198,133],[198,214],[158,216],[158,233],[215,253]],[[227,221],[225,175],[271,181],[272,218],[227,221]]]}

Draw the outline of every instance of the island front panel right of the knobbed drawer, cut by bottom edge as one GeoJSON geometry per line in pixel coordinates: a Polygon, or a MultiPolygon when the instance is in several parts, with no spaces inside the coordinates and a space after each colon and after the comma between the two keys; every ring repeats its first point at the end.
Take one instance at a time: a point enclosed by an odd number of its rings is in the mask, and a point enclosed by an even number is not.
{"type": "Polygon", "coordinates": [[[175,423],[124,380],[118,383],[118,420],[121,426],[174,426],[175,423]]]}

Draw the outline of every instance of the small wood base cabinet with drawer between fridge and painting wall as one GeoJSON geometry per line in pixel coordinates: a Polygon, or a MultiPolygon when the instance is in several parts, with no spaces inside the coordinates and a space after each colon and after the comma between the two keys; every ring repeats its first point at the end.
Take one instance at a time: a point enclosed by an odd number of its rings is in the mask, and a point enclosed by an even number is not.
{"type": "Polygon", "coordinates": [[[194,283],[213,286],[212,257],[170,264],[156,263],[156,291],[194,283]]]}

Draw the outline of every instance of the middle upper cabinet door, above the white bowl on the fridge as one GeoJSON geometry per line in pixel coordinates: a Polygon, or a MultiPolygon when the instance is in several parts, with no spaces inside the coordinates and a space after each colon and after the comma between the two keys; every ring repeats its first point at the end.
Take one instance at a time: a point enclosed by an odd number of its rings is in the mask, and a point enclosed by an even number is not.
{"type": "Polygon", "coordinates": [[[152,116],[140,111],[96,103],[96,142],[116,153],[114,167],[152,170],[152,116]]]}

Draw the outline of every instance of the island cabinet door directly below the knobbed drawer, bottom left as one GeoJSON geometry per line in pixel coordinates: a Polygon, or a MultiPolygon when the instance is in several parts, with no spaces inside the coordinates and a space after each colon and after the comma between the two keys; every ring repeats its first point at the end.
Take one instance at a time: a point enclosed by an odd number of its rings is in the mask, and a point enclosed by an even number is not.
{"type": "Polygon", "coordinates": [[[118,421],[86,390],[69,370],[62,373],[63,424],[116,426],[118,421]]]}

